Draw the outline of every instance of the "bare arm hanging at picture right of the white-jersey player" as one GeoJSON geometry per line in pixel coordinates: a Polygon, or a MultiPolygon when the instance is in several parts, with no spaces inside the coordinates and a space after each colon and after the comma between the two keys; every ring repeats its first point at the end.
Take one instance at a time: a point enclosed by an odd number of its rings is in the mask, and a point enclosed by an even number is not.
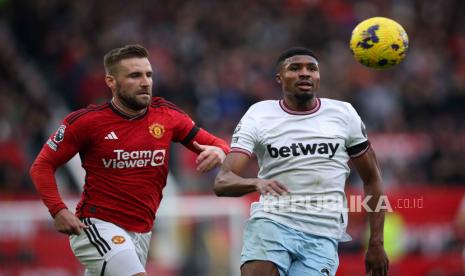
{"type": "Polygon", "coordinates": [[[363,180],[365,196],[371,196],[368,206],[373,212],[368,212],[370,223],[370,239],[365,256],[366,272],[370,275],[387,275],[389,260],[384,250],[384,210],[376,206],[383,195],[381,171],[375,152],[369,147],[362,155],[351,159],[363,180]]]}

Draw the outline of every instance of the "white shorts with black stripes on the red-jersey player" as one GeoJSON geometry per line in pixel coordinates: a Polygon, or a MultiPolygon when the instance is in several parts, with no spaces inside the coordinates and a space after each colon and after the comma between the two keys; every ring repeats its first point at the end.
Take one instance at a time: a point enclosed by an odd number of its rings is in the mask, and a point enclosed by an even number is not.
{"type": "Polygon", "coordinates": [[[81,219],[89,228],[70,236],[71,250],[86,276],[128,276],[145,272],[152,232],[135,233],[96,218],[81,219]]]}

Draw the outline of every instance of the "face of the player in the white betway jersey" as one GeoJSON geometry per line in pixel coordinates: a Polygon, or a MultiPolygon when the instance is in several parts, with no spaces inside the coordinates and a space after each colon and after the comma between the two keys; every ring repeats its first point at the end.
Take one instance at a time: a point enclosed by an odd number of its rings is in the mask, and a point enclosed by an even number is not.
{"type": "Polygon", "coordinates": [[[318,61],[307,55],[289,57],[283,62],[276,80],[287,96],[300,101],[311,100],[320,88],[318,61]]]}

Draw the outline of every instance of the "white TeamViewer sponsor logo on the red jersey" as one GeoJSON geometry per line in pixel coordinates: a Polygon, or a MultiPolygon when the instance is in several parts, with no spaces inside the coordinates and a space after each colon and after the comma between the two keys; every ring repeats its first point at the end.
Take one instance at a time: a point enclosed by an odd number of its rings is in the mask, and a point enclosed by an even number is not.
{"type": "Polygon", "coordinates": [[[123,149],[113,150],[115,158],[102,158],[105,168],[126,169],[126,168],[144,168],[157,167],[165,162],[164,149],[162,150],[134,150],[125,151],[123,149]]]}

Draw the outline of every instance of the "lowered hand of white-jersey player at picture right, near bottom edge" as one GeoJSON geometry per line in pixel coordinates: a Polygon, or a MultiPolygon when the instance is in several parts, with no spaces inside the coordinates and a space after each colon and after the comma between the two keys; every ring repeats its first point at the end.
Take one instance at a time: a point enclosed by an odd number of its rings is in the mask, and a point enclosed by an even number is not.
{"type": "Polygon", "coordinates": [[[386,276],[389,260],[383,244],[369,245],[365,256],[365,270],[367,275],[386,276]]]}

